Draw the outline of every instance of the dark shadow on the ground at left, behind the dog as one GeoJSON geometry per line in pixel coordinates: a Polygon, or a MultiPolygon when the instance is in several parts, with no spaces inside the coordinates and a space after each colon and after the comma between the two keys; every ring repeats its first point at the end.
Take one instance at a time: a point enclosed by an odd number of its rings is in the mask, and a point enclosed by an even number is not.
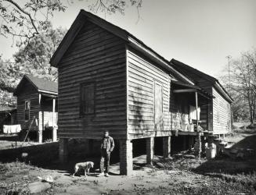
{"type": "MultiPolygon", "coordinates": [[[[92,172],[99,169],[100,154],[86,155],[83,151],[84,147],[74,147],[69,145],[70,155],[67,162],[61,164],[59,162],[59,143],[45,143],[31,145],[27,147],[18,147],[13,149],[0,150],[0,162],[26,161],[36,167],[47,168],[51,170],[59,170],[60,172],[74,173],[74,165],[82,161],[93,161],[95,163],[92,172]],[[27,159],[21,157],[22,153],[27,153],[27,159]]],[[[119,150],[116,150],[111,156],[110,165],[119,162],[119,150]]]]}

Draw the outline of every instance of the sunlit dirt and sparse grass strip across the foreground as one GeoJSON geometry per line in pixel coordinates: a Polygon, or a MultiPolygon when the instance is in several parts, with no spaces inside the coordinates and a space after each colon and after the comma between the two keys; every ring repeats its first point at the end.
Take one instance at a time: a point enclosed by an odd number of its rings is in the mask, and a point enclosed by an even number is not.
{"type": "MultiPolygon", "coordinates": [[[[115,173],[117,165],[111,167],[115,173]]],[[[38,176],[52,176],[51,188],[38,194],[255,194],[256,186],[230,181],[220,176],[207,176],[184,170],[159,169],[155,167],[135,168],[132,176],[111,175],[97,177],[72,177],[73,172],[37,168],[23,163],[0,164],[0,194],[9,190],[24,188],[28,183],[38,180],[38,176]]],[[[245,176],[245,175],[243,175],[245,176]]],[[[252,175],[255,177],[256,175],[252,175]]],[[[249,177],[246,177],[247,179],[249,177]]],[[[244,181],[244,179],[243,179],[244,181]]],[[[256,183],[255,183],[256,184],[256,183]]],[[[12,193],[10,193],[12,194],[12,193]]]]}

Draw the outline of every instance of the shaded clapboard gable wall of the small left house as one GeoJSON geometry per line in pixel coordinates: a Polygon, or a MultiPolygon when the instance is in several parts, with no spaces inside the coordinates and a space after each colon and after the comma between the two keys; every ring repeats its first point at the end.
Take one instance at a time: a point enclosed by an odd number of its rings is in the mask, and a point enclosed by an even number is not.
{"type": "MultiPolygon", "coordinates": [[[[24,89],[26,90],[21,91],[17,96],[17,122],[22,129],[28,129],[32,119],[34,117],[38,119],[39,94],[31,83],[25,83],[24,89]],[[31,101],[30,119],[28,121],[25,121],[25,101],[31,101]]],[[[31,129],[38,129],[35,122],[33,122],[31,129]]]]}

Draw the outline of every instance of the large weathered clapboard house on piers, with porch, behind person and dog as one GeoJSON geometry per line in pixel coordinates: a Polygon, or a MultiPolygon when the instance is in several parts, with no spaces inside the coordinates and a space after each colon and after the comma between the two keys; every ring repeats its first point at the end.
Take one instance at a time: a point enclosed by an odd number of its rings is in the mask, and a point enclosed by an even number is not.
{"type": "Polygon", "coordinates": [[[171,136],[200,143],[208,133],[200,127],[199,108],[213,95],[132,34],[89,12],[81,10],[50,63],[59,73],[62,161],[69,138],[99,140],[108,129],[119,141],[121,174],[129,174],[133,140],[146,140],[151,163],[155,137],[162,138],[168,157],[171,136]]]}

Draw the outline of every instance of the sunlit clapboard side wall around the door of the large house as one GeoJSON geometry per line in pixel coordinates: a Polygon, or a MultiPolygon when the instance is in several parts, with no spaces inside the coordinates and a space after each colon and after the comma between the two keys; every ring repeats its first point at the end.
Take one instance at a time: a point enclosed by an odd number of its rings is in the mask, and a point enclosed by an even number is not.
{"type": "Polygon", "coordinates": [[[128,62],[128,137],[131,139],[164,136],[171,133],[169,107],[171,77],[132,49],[127,50],[128,62]],[[154,121],[154,85],[163,91],[163,128],[156,131],[154,121]]]}

